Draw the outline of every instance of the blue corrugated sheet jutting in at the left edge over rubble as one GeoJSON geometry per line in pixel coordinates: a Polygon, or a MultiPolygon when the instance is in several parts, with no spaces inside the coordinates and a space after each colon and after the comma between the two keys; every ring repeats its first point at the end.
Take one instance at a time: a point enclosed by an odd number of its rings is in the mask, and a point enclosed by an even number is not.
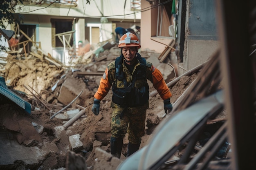
{"type": "Polygon", "coordinates": [[[4,77],[0,77],[0,93],[23,108],[27,113],[31,114],[31,104],[7,88],[4,77]]]}

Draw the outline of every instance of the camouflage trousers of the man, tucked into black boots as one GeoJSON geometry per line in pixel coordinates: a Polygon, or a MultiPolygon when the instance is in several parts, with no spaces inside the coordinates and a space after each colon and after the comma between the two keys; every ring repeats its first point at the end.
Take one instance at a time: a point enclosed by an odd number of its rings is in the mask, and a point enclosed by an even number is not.
{"type": "Polygon", "coordinates": [[[145,133],[145,121],[147,106],[139,108],[122,108],[112,103],[111,135],[112,137],[125,137],[132,144],[140,144],[141,137],[145,133]],[[121,117],[120,117],[121,115],[121,117]]]}

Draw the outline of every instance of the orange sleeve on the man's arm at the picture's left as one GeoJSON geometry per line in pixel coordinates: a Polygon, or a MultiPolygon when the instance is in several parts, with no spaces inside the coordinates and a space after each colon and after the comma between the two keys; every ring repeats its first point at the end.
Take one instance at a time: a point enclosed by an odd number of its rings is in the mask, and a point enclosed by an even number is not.
{"type": "Polygon", "coordinates": [[[108,94],[108,91],[110,90],[111,86],[112,84],[110,84],[108,80],[108,68],[106,68],[103,76],[101,77],[99,88],[97,92],[94,94],[94,98],[102,100],[108,94]]]}

